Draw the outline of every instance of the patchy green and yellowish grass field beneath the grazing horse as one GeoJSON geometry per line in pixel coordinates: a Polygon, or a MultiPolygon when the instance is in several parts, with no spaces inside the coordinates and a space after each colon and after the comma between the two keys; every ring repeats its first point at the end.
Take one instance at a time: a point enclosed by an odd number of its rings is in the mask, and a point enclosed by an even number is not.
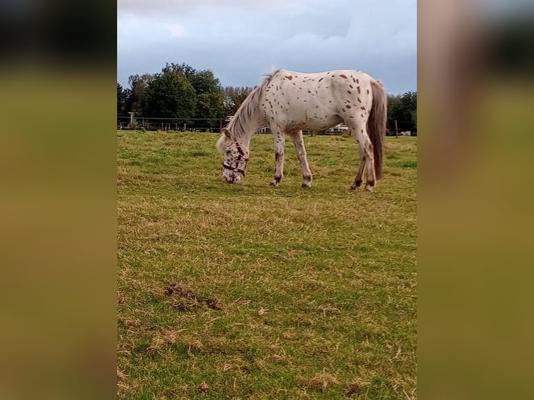
{"type": "Polygon", "coordinates": [[[222,182],[218,135],[117,132],[120,399],[415,399],[417,139],[373,193],[356,141],[254,135],[222,182]]]}

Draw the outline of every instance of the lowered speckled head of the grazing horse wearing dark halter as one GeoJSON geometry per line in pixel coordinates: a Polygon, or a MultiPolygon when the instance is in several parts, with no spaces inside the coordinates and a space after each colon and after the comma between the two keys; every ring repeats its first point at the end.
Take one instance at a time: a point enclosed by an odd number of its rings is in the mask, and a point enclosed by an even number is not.
{"type": "Polygon", "coordinates": [[[228,183],[237,183],[245,176],[249,151],[240,141],[231,138],[231,132],[223,128],[217,141],[218,151],[224,153],[222,178],[228,183]]]}

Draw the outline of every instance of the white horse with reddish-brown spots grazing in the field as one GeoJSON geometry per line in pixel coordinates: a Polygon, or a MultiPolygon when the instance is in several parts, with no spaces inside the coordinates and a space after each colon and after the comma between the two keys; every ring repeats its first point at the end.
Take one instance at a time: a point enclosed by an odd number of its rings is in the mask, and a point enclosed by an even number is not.
{"type": "Polygon", "coordinates": [[[360,150],[360,165],[351,189],[360,187],[367,170],[365,190],[372,192],[382,176],[383,141],[386,136],[387,97],[383,84],[358,70],[304,73],[275,70],[245,98],[222,128],[215,147],[224,153],[222,177],[238,183],[245,176],[250,139],[268,125],[275,141],[277,186],[284,176],[284,145],[289,134],[303,171],[303,187],[312,185],[303,130],[326,130],[345,123],[360,150]]]}

